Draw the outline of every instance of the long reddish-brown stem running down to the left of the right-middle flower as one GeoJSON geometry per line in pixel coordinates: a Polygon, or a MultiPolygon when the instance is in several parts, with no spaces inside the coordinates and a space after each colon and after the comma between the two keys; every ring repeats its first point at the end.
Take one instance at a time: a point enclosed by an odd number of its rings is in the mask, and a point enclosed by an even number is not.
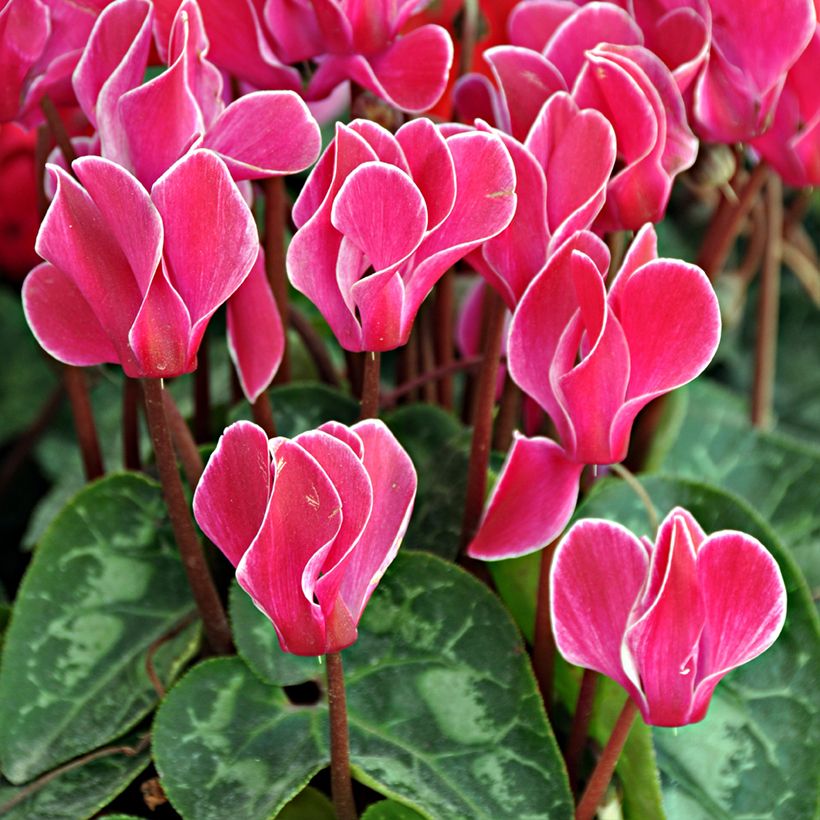
{"type": "MultiPolygon", "coordinates": [[[[490,463],[490,439],[493,432],[493,407],[495,406],[496,375],[501,341],[504,334],[506,306],[492,288],[487,289],[487,329],[484,337],[484,360],[478,372],[476,402],[473,412],[473,440],[467,468],[467,495],[461,526],[462,550],[472,540],[481,520],[484,493],[487,489],[487,467],[490,463]]],[[[486,304],[486,303],[485,303],[486,304]]]]}

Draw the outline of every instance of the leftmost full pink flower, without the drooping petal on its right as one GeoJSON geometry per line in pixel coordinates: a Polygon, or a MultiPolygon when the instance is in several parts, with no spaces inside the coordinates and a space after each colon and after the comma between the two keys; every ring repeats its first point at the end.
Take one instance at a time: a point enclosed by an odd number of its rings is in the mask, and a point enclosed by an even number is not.
{"type": "Polygon", "coordinates": [[[186,154],[151,188],[100,157],[56,166],[57,193],[37,237],[47,260],[23,285],[34,335],[73,365],[121,364],[133,377],[196,367],[214,311],[259,252],[250,210],[225,163],[186,154]]]}

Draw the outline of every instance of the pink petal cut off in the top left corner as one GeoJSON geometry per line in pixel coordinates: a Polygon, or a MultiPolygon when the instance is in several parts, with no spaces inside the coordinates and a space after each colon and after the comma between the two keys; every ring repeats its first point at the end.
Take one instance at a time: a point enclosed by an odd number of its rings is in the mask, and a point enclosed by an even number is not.
{"type": "Polygon", "coordinates": [[[50,32],[48,6],[40,0],[8,0],[0,9],[0,122],[16,118],[26,74],[50,32]]]}

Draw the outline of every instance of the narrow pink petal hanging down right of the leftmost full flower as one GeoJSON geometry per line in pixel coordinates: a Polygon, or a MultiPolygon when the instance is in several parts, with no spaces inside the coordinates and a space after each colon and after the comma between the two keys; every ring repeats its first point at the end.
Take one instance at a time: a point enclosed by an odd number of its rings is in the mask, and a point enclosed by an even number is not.
{"type": "Polygon", "coordinates": [[[285,350],[285,331],[265,274],[265,252],[228,300],[228,350],[242,392],[256,401],[269,387],[285,350]]]}

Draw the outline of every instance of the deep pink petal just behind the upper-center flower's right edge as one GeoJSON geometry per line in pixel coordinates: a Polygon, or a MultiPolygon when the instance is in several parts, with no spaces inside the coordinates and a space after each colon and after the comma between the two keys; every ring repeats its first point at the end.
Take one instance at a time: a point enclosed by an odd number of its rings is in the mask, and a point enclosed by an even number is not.
{"type": "MultiPolygon", "coordinates": [[[[489,126],[480,122],[480,131],[489,126]]],[[[499,293],[510,310],[547,262],[547,184],[541,166],[518,140],[496,131],[513,161],[517,205],[510,224],[481,247],[485,261],[504,285],[499,293]]],[[[495,277],[489,283],[497,287],[495,277]]]]}

